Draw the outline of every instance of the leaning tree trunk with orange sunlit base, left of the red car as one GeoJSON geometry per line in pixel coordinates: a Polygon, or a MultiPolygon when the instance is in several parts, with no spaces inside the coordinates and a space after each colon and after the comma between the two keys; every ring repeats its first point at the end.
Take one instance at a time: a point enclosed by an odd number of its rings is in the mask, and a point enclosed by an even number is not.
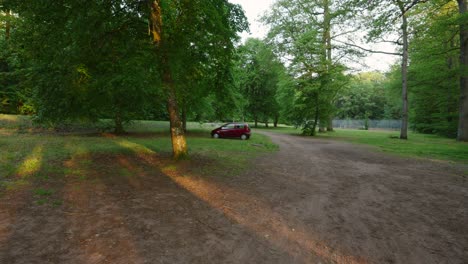
{"type": "Polygon", "coordinates": [[[179,109],[177,106],[177,96],[175,84],[172,79],[170,70],[170,60],[167,54],[167,45],[162,34],[162,13],[161,13],[161,0],[148,0],[148,7],[150,8],[149,17],[149,33],[152,37],[153,44],[156,49],[161,51],[162,54],[162,67],[163,67],[163,87],[167,95],[167,112],[169,113],[170,131],[172,140],[172,153],[175,159],[184,158],[188,155],[187,142],[185,140],[184,128],[179,116],[179,109]]]}

